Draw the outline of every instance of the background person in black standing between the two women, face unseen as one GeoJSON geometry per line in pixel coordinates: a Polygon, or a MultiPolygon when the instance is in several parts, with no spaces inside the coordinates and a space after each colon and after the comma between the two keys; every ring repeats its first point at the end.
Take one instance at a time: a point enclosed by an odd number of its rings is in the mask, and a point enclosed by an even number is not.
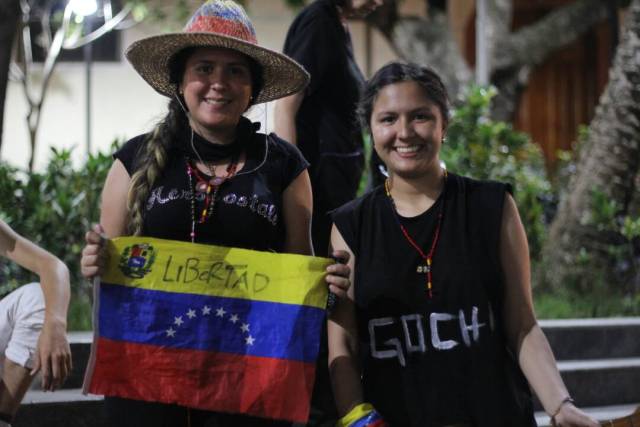
{"type": "Polygon", "coordinates": [[[297,145],[311,163],[312,241],[326,255],[332,209],[352,200],[364,168],[362,131],[355,107],[364,84],[347,19],[363,17],[382,0],[315,0],[295,18],[284,53],[311,75],[305,91],[276,104],[276,133],[297,145]]]}

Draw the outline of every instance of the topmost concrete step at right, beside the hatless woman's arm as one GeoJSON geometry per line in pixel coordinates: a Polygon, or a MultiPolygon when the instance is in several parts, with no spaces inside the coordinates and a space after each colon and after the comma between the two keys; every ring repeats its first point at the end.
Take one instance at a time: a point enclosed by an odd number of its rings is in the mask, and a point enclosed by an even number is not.
{"type": "Polygon", "coordinates": [[[640,317],[540,320],[556,360],[640,356],[640,317]]]}

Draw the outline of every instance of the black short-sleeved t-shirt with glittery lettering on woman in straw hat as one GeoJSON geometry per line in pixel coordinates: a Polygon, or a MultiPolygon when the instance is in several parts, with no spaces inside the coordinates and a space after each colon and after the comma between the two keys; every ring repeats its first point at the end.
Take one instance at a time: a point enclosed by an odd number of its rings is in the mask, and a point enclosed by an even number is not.
{"type": "MultiPolygon", "coordinates": [[[[128,141],[114,154],[132,175],[138,152],[148,135],[128,141]]],[[[200,138],[197,134],[195,138],[200,138]]],[[[175,144],[187,144],[185,135],[175,144]]],[[[211,217],[196,223],[196,242],[282,252],[285,224],[282,194],[307,168],[300,151],[274,134],[252,133],[246,142],[246,161],[235,176],[220,187],[211,217]]],[[[196,196],[196,214],[204,196],[196,196]]],[[[144,211],[142,234],[163,239],[189,241],[191,233],[191,189],[183,154],[171,149],[168,164],[150,192],[144,211]]]]}

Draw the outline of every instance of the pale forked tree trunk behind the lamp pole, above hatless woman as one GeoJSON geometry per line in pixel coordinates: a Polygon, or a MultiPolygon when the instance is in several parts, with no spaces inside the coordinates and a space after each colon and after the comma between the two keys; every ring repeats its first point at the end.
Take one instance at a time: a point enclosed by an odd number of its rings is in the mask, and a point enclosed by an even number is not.
{"type": "MultiPolygon", "coordinates": [[[[400,17],[396,3],[388,2],[371,17],[370,23],[385,35],[400,57],[433,67],[442,76],[451,99],[457,99],[460,91],[473,81],[473,71],[449,30],[445,11],[429,7],[427,19],[400,17]]],[[[428,0],[425,3],[433,6],[428,0]]],[[[507,122],[515,116],[533,68],[606,19],[609,0],[576,0],[516,32],[510,31],[512,3],[488,1],[485,35],[491,83],[499,91],[492,103],[491,116],[507,122]]]]}

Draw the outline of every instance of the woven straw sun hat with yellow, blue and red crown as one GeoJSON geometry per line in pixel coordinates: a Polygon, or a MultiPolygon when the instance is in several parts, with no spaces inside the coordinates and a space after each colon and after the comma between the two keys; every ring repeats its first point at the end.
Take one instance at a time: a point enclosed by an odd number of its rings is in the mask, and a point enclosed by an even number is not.
{"type": "Polygon", "coordinates": [[[208,0],[193,14],[182,32],[138,40],[129,46],[125,55],[151,87],[172,98],[177,88],[169,79],[169,64],[176,53],[188,47],[233,49],[260,64],[263,87],[254,104],[298,92],[309,81],[309,74],[297,62],[258,46],[249,17],[231,0],[208,0]]]}

